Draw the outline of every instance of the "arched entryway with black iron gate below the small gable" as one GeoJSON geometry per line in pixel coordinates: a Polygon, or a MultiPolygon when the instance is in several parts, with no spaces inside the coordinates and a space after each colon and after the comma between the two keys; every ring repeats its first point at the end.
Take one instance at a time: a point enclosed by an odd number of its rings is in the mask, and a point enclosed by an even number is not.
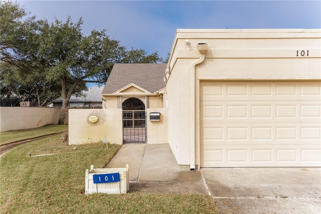
{"type": "Polygon", "coordinates": [[[128,98],[122,103],[123,142],[146,142],[146,112],[138,98],[128,98]]]}

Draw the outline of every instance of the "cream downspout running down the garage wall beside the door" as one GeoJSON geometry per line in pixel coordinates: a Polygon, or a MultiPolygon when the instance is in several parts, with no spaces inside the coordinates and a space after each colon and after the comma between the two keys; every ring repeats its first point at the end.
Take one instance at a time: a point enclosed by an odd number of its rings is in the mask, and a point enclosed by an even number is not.
{"type": "MultiPolygon", "coordinates": [[[[201,52],[201,51],[200,51],[201,52]]],[[[204,52],[204,51],[203,51],[204,52]]],[[[206,52],[206,51],[205,51],[206,52]]],[[[195,171],[195,67],[205,59],[205,52],[201,52],[199,59],[193,61],[190,67],[190,169],[195,171]]],[[[200,163],[199,163],[200,164],[200,163]]]]}

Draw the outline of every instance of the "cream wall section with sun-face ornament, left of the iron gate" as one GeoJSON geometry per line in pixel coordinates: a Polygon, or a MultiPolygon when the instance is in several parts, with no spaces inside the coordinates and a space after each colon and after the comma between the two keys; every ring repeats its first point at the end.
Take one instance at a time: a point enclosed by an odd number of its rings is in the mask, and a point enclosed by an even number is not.
{"type": "Polygon", "coordinates": [[[122,144],[122,109],[69,110],[69,145],[101,142],[104,138],[112,144],[122,144]],[[95,124],[88,122],[97,116],[95,124]]]}

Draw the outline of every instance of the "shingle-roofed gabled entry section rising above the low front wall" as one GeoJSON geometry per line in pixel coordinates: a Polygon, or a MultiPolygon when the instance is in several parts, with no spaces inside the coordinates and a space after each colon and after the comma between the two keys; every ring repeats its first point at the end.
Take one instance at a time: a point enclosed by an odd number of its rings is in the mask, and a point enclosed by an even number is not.
{"type": "Polygon", "coordinates": [[[166,64],[115,64],[101,92],[103,107],[125,110],[163,108],[165,69],[166,64]]]}

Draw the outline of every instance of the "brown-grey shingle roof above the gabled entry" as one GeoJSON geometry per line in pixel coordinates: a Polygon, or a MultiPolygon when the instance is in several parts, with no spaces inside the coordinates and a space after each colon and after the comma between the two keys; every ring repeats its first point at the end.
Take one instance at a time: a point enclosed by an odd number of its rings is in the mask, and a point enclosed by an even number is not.
{"type": "Polygon", "coordinates": [[[164,82],[166,65],[155,63],[114,64],[101,93],[113,93],[130,83],[149,92],[162,89],[166,86],[164,82]]]}

